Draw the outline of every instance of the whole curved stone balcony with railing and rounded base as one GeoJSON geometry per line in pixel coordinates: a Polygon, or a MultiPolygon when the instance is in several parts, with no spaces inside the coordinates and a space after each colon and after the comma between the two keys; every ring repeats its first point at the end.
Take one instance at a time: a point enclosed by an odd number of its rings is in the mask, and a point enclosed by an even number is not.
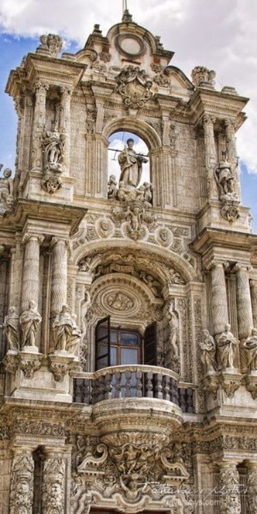
{"type": "Polygon", "coordinates": [[[77,374],[73,402],[92,408],[91,419],[102,441],[130,432],[140,439],[151,433],[164,443],[182,426],[183,413],[194,413],[194,391],[179,387],[178,380],[178,374],[162,367],[108,367],[77,374]]]}

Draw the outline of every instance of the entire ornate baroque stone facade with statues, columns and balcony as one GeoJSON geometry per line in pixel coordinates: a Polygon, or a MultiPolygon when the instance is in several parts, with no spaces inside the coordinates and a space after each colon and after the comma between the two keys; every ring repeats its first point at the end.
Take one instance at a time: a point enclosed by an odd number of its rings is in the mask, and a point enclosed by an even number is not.
{"type": "Polygon", "coordinates": [[[247,99],[204,66],[191,82],[127,10],[61,50],[41,36],[6,89],[1,514],[257,513],[257,238],[235,138],[247,99]]]}

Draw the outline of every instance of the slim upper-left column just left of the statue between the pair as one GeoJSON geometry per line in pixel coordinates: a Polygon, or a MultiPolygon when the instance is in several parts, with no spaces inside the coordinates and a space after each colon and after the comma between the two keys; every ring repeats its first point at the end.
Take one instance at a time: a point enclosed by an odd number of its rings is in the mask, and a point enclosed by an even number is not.
{"type": "Polygon", "coordinates": [[[34,106],[34,123],[33,123],[33,140],[32,140],[32,169],[42,170],[42,133],[45,130],[46,118],[46,100],[47,90],[49,86],[42,82],[36,82],[35,90],[35,106],[34,106]]]}

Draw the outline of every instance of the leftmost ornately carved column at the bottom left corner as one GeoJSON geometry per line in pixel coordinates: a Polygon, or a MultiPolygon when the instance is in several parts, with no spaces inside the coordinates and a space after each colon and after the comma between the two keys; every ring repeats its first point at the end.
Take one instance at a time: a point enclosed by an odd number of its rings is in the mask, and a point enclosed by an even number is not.
{"type": "Polygon", "coordinates": [[[10,514],[32,514],[34,493],[34,459],[32,449],[14,448],[10,484],[10,514]]]}

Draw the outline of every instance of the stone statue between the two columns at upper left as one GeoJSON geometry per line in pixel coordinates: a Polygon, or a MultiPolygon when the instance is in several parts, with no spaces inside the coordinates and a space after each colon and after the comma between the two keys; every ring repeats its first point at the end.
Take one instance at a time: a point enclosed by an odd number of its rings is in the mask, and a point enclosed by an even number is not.
{"type": "Polygon", "coordinates": [[[42,145],[44,148],[45,171],[62,173],[63,144],[57,125],[53,128],[53,131],[45,131],[42,145]]]}

